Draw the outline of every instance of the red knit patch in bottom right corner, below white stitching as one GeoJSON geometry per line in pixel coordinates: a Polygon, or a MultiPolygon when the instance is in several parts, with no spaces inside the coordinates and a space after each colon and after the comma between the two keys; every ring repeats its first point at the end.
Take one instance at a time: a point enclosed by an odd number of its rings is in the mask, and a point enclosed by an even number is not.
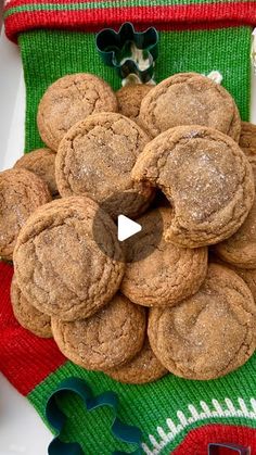
{"type": "MultiPolygon", "coordinates": [[[[251,447],[252,455],[256,454],[256,430],[230,425],[206,425],[191,430],[183,442],[171,454],[207,455],[207,446],[210,442],[244,445],[245,447],[251,447]]],[[[221,455],[232,454],[232,452],[223,448],[219,453],[221,455]]]]}

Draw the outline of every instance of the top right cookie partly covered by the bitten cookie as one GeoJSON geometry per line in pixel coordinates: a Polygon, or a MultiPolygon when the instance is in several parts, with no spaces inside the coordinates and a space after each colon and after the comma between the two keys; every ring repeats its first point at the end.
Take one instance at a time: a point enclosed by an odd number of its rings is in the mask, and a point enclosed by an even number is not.
{"type": "Polygon", "coordinates": [[[154,87],[142,100],[139,122],[152,136],[181,125],[218,129],[239,141],[241,119],[231,94],[197,73],[180,73],[154,87]]]}

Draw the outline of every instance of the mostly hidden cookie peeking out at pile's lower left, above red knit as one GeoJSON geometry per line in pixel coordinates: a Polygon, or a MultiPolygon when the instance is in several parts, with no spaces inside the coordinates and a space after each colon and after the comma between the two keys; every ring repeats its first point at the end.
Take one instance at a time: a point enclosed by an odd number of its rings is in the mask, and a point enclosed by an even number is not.
{"type": "Polygon", "coordinates": [[[12,279],[11,285],[11,302],[14,316],[22,327],[37,337],[52,337],[50,316],[39,312],[35,306],[28,303],[21,292],[15,276],[12,279]]]}

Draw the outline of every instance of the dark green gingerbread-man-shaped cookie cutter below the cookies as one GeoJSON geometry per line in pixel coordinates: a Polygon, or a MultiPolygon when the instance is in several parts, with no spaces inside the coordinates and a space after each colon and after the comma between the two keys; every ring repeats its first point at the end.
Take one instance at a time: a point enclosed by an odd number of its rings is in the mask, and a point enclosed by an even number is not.
{"type": "MultiPolygon", "coordinates": [[[[141,455],[141,440],[142,433],[141,430],[137,427],[130,427],[126,424],[123,424],[117,417],[118,409],[118,396],[115,392],[104,392],[101,395],[93,396],[92,391],[88,383],[79,378],[69,378],[65,379],[60,383],[60,386],[54,390],[48,400],[46,406],[46,417],[48,422],[56,431],[56,437],[52,440],[48,447],[49,455],[85,455],[80,444],[76,442],[63,442],[61,441],[62,431],[65,426],[67,417],[60,409],[57,405],[57,397],[62,397],[66,393],[74,393],[79,396],[84,404],[85,408],[90,412],[98,407],[107,406],[113,410],[113,422],[111,431],[114,437],[123,442],[128,444],[137,444],[138,448],[135,452],[130,452],[132,455],[141,455]]],[[[125,455],[127,452],[114,452],[113,455],[125,455]]]]}

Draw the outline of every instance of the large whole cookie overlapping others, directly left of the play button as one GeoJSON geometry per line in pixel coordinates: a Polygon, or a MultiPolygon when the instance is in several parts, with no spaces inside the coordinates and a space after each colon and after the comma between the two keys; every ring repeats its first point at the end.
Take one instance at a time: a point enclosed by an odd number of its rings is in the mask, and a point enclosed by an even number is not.
{"type": "Polygon", "coordinates": [[[64,320],[89,317],[116,293],[124,275],[116,226],[89,198],[52,201],[20,232],[14,268],[17,283],[39,311],[64,320]],[[98,214],[105,255],[93,239],[98,214]]]}

